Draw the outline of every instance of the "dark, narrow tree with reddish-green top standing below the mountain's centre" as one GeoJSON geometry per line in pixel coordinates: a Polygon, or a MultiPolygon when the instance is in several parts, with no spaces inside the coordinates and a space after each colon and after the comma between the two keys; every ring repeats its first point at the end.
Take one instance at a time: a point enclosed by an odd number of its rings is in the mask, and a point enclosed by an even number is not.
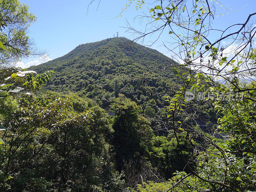
{"type": "Polygon", "coordinates": [[[152,129],[144,117],[140,116],[140,107],[123,94],[111,107],[115,113],[113,138],[111,143],[116,153],[116,170],[122,170],[124,161],[140,159],[152,147],[152,129]]]}

